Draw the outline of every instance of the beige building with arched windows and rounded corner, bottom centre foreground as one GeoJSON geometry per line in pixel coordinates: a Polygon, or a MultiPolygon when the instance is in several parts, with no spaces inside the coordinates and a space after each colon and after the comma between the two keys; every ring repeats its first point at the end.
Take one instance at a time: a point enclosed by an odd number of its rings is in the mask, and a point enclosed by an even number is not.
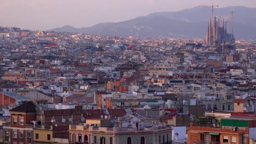
{"type": "MultiPolygon", "coordinates": [[[[109,120],[109,119],[104,119],[109,120]]],[[[90,124],[86,120],[86,124],[90,124]]],[[[97,121],[94,120],[93,125],[97,121]]],[[[139,121],[137,117],[126,116],[118,118],[114,122],[114,127],[103,126],[101,121],[100,127],[85,125],[69,125],[69,143],[171,143],[172,128],[164,124],[139,121]],[[129,120],[128,120],[129,119],[129,120]]]]}

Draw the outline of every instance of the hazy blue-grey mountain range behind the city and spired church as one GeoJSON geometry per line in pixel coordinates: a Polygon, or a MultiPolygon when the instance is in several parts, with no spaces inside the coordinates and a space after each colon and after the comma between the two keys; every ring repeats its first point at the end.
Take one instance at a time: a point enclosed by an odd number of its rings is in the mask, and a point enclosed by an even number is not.
{"type": "MultiPolygon", "coordinates": [[[[235,38],[256,41],[256,8],[214,8],[214,15],[217,16],[217,19],[227,21],[229,33],[231,33],[232,10],[235,11],[235,38]]],[[[118,35],[121,37],[205,38],[207,22],[210,21],[210,17],[211,8],[200,6],[176,12],[153,13],[122,22],[99,23],[92,27],[63,26],[49,31],[118,35]]]]}

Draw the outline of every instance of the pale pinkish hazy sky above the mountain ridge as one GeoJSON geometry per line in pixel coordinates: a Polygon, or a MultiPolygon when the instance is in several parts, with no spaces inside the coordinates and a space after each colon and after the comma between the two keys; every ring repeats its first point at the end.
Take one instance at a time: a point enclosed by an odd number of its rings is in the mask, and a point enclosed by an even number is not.
{"type": "Polygon", "coordinates": [[[256,8],[255,0],[0,0],[0,26],[41,31],[66,25],[90,27],[212,2],[220,8],[256,8]]]}

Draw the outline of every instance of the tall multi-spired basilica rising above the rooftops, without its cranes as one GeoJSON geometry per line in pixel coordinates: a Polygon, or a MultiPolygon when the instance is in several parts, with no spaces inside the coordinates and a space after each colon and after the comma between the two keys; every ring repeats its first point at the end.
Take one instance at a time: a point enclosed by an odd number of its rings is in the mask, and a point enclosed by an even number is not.
{"type": "Polygon", "coordinates": [[[207,34],[206,34],[206,44],[235,44],[234,34],[228,33],[226,31],[226,22],[223,19],[223,26],[220,27],[220,20],[218,22],[216,17],[214,17],[214,23],[212,26],[212,22],[210,19],[210,25],[208,22],[207,26],[207,34]]]}

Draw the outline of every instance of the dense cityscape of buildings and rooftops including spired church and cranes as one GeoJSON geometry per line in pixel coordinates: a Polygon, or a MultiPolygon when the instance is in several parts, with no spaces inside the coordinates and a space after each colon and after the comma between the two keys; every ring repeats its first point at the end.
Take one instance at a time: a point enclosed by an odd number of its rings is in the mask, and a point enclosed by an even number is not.
{"type": "Polygon", "coordinates": [[[0,27],[0,143],[256,143],[256,43],[209,17],[202,39],[0,27]]]}

